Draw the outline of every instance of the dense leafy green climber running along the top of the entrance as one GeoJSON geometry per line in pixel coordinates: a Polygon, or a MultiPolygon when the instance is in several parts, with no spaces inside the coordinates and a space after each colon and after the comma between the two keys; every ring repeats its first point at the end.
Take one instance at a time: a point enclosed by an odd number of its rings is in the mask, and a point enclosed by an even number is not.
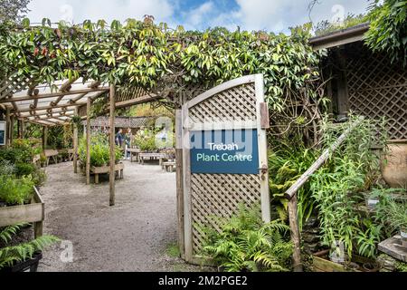
{"type": "Polygon", "coordinates": [[[6,75],[35,82],[83,77],[150,90],[160,81],[170,87],[216,84],[263,73],[268,98],[278,100],[318,75],[319,54],[308,46],[310,25],[288,36],[224,28],[185,32],[151,18],[110,26],[104,20],[74,26],[52,26],[48,19],[35,27],[23,23],[1,36],[2,65],[6,75]]]}

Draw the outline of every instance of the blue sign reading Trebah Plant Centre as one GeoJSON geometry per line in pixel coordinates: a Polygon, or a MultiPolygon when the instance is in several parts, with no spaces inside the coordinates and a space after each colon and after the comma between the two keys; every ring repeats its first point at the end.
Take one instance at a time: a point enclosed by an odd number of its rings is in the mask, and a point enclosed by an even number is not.
{"type": "Polygon", "coordinates": [[[259,174],[257,130],[190,131],[191,173],[259,174]]]}

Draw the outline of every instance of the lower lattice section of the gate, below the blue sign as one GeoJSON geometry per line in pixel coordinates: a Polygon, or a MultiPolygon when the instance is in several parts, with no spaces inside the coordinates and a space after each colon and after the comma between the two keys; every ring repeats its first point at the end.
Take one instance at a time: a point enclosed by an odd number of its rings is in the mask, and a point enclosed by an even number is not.
{"type": "Polygon", "coordinates": [[[191,217],[194,254],[199,253],[204,233],[199,227],[219,230],[211,217],[230,218],[239,204],[248,206],[260,202],[259,175],[193,174],[191,176],[191,217]]]}

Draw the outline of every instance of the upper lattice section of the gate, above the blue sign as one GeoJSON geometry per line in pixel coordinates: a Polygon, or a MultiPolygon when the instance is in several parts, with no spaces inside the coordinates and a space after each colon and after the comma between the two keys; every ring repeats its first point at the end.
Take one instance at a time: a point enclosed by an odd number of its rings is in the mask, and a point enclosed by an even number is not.
{"type": "Polygon", "coordinates": [[[255,121],[256,90],[254,83],[241,85],[214,95],[189,110],[194,123],[255,121]]]}

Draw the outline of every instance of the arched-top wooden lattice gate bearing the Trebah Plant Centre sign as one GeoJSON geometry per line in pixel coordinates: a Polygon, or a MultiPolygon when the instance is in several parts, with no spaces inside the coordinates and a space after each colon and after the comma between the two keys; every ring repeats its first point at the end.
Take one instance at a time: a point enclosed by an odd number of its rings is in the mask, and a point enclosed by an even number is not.
{"type": "MultiPolygon", "coordinates": [[[[211,217],[228,218],[237,211],[241,203],[249,206],[260,203],[263,220],[270,221],[266,139],[268,128],[268,107],[264,102],[264,83],[261,74],[225,82],[186,102],[183,106],[183,212],[187,262],[200,262],[196,258],[204,240],[204,233],[200,227],[212,225],[216,228],[217,225],[211,217]],[[200,132],[214,134],[222,131],[233,132],[231,134],[241,131],[247,136],[252,136],[253,150],[255,150],[253,156],[249,157],[246,163],[241,162],[239,165],[241,169],[237,168],[235,172],[228,171],[229,165],[225,168],[228,173],[218,173],[217,170],[221,170],[220,167],[209,166],[202,172],[194,169],[195,165],[192,164],[194,149],[190,148],[190,142],[195,138],[193,136],[200,132]],[[248,133],[249,131],[251,133],[248,133]],[[251,164],[253,162],[254,164],[251,164]],[[254,172],[250,171],[250,166],[255,166],[254,172]]],[[[247,137],[245,140],[247,141],[247,137]]],[[[211,146],[219,147],[219,145],[211,146]]],[[[238,149],[237,145],[233,146],[238,149]]],[[[222,150],[221,147],[219,147],[220,150],[222,150]]],[[[226,158],[233,160],[233,156],[225,155],[226,158]]],[[[233,161],[230,164],[232,169],[233,161]]]]}

